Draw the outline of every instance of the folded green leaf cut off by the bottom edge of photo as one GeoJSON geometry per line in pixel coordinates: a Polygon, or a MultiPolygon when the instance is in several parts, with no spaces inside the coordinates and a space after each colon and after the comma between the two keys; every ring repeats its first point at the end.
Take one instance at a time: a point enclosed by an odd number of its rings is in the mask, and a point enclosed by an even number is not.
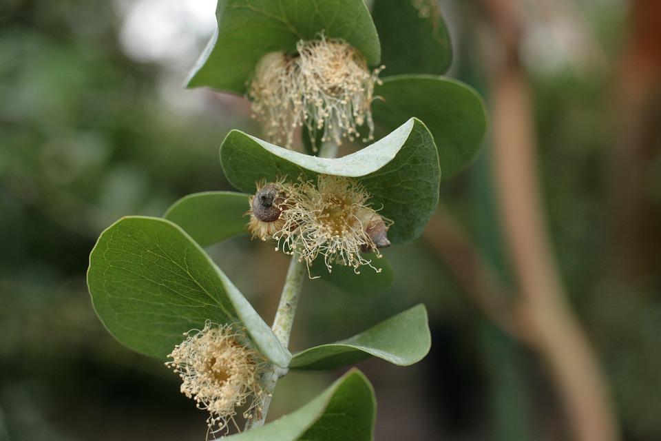
{"type": "Polygon", "coordinates": [[[353,369],[300,409],[231,441],[372,441],[377,402],[361,371],[353,369]]]}

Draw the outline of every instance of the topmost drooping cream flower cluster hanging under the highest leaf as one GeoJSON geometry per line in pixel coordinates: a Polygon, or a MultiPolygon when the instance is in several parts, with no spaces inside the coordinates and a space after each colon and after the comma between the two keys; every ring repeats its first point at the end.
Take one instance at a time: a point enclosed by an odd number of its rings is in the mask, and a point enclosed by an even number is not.
{"type": "Polygon", "coordinates": [[[296,49],[295,55],[264,55],[249,85],[253,116],[262,121],[267,139],[291,148],[295,130],[305,125],[313,145],[319,130],[322,142],[340,144],[344,138],[353,141],[365,123],[365,141],[373,139],[370,105],[383,67],[370,72],[357,50],[323,34],[299,41],[296,49]]]}

